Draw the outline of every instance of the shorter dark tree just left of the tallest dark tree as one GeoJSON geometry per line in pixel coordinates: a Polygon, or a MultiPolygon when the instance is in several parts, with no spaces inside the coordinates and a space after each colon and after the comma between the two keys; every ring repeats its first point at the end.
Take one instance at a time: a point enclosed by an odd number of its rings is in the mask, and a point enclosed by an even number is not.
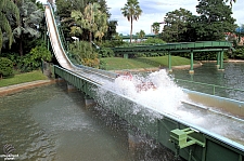
{"type": "Polygon", "coordinates": [[[182,8],[166,13],[163,40],[167,42],[184,41],[183,35],[188,31],[188,21],[191,16],[192,13],[182,8]]]}

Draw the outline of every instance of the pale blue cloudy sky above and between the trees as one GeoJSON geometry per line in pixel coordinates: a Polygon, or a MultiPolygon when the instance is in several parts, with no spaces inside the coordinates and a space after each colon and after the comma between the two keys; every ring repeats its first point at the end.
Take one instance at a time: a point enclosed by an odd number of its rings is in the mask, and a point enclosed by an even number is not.
{"type": "MultiPolygon", "coordinates": [[[[46,3],[47,0],[39,0],[46,3]]],[[[110,8],[110,13],[112,14],[112,21],[118,21],[117,32],[123,35],[130,33],[130,22],[123,16],[120,9],[125,6],[127,0],[106,0],[107,6],[110,8]]],[[[136,22],[133,21],[133,33],[139,32],[141,29],[145,33],[151,33],[151,25],[155,22],[164,22],[164,17],[167,12],[179,10],[183,8],[191,11],[196,15],[196,5],[198,4],[197,0],[138,0],[139,5],[142,9],[143,13],[136,22]]],[[[244,0],[236,0],[233,3],[232,16],[236,19],[235,24],[241,26],[244,24],[244,0]]],[[[163,25],[160,25],[160,31],[163,25]]]]}

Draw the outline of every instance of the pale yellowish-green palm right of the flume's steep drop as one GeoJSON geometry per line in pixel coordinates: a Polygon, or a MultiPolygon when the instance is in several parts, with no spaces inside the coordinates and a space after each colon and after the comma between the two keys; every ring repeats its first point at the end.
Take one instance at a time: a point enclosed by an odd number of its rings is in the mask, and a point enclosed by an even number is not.
{"type": "Polygon", "coordinates": [[[92,41],[92,33],[100,40],[107,30],[106,13],[100,11],[99,3],[90,3],[85,8],[84,14],[80,11],[73,11],[72,18],[75,19],[76,26],[72,30],[82,31],[85,28],[89,30],[89,40],[92,41]]]}

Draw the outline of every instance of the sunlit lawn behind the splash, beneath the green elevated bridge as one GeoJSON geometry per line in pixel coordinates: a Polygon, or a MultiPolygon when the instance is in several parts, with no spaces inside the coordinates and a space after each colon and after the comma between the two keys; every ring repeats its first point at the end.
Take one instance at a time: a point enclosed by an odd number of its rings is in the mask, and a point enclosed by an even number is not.
{"type": "MultiPolygon", "coordinates": [[[[153,68],[153,67],[168,67],[168,56],[157,57],[139,57],[139,58],[121,58],[121,57],[106,57],[102,58],[106,63],[107,70],[121,69],[137,69],[137,68],[153,68]]],[[[190,65],[190,59],[171,56],[171,66],[190,65]]]]}

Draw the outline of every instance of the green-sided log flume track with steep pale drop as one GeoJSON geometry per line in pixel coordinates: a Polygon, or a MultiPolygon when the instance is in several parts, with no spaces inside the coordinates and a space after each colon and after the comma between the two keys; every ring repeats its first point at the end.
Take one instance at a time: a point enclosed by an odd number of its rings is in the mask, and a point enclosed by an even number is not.
{"type": "MultiPolygon", "coordinates": [[[[185,109],[191,108],[191,110],[196,111],[196,115],[198,112],[207,112],[215,116],[211,117],[211,120],[208,120],[209,123],[207,124],[209,128],[211,124],[215,124],[215,121],[228,123],[228,129],[226,130],[228,133],[221,135],[221,133],[217,134],[206,126],[190,123],[168,111],[156,110],[153,107],[140,104],[137,99],[104,88],[104,83],[114,81],[116,75],[74,65],[68,59],[62,45],[51,5],[46,4],[44,8],[49,40],[60,64],[60,66],[54,66],[55,76],[65,79],[69,84],[84,92],[87,97],[93,98],[104,108],[137,126],[142,133],[150,135],[168,149],[175,151],[176,156],[195,161],[244,161],[244,121],[242,120],[244,116],[239,116],[242,118],[240,119],[215,112],[208,108],[201,108],[197,103],[182,102],[185,109]],[[99,90],[104,91],[103,95],[98,94],[99,90]],[[110,102],[104,103],[105,99],[110,102]],[[134,108],[137,108],[137,111],[134,108]]],[[[237,113],[244,113],[244,103],[242,102],[214,97],[187,90],[185,93],[189,93],[192,97],[202,95],[205,99],[211,99],[219,104],[228,103],[237,113]]]]}

